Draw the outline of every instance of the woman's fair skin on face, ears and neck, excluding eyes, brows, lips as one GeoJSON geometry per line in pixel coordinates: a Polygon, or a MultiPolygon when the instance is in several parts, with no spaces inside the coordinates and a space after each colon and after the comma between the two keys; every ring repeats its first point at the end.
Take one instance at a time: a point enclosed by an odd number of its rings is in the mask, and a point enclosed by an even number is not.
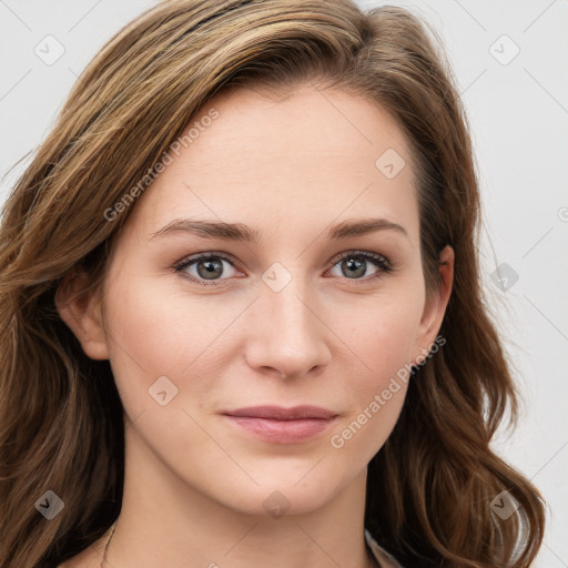
{"type": "MultiPolygon", "coordinates": [[[[102,290],[81,294],[88,275],[80,273],[58,295],[85,353],[110,359],[125,409],[124,496],[108,560],[364,568],[366,468],[397,420],[406,384],[343,447],[331,436],[435,342],[454,253],[442,252],[443,284],[427,295],[412,156],[377,103],[304,85],[286,98],[223,92],[200,116],[211,108],[219,118],[135,203],[102,290]],[[387,149],[407,164],[393,179],[375,166],[387,149]],[[243,223],[261,236],[152,237],[181,217],[243,223]],[[406,234],[325,235],[331,224],[367,217],[406,234]],[[373,278],[381,268],[363,261],[366,272],[349,277],[348,258],[334,257],[353,251],[386,256],[394,271],[373,278]],[[224,262],[209,286],[172,270],[203,252],[234,264],[224,262]],[[291,277],[280,292],[262,278],[276,261],[291,277]],[[149,388],[163,375],[179,390],[160,406],[149,388]],[[263,404],[312,404],[338,417],[323,434],[283,445],[217,414],[263,404]],[[277,518],[263,505],[274,491],[288,507],[277,518]]],[[[200,280],[195,264],[185,274],[200,280]]],[[[102,541],[65,568],[100,566],[102,541]]]]}

